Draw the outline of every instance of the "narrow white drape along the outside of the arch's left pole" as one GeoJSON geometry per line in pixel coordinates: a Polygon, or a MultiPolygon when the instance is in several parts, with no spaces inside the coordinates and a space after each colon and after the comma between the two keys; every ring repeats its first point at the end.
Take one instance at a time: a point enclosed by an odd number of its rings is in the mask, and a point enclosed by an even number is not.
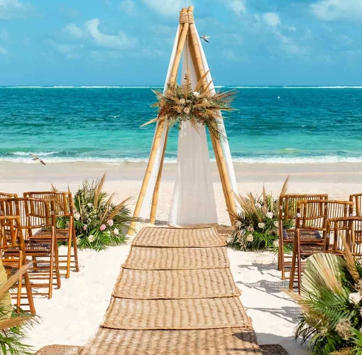
{"type": "MultiPolygon", "coordinates": [[[[170,80],[172,65],[173,65],[173,62],[175,61],[175,54],[176,54],[176,49],[177,49],[177,40],[178,40],[179,31],[180,31],[180,26],[177,27],[175,40],[174,40],[174,43],[173,43],[173,48],[172,48],[172,53],[171,53],[170,64],[168,65],[168,74],[166,75],[166,80],[165,80],[165,85],[163,87],[163,92],[165,92],[165,90],[167,89],[168,82],[170,80]]],[[[163,146],[165,145],[166,130],[167,130],[167,126],[165,125],[165,127],[163,129],[162,136],[161,136],[161,140],[160,140],[160,146],[158,146],[158,151],[157,151],[157,154],[156,154],[155,163],[154,163],[153,169],[151,171],[150,181],[148,182],[146,195],[145,195],[145,198],[143,200],[142,207],[141,207],[141,212],[140,212],[139,217],[142,218],[142,219],[148,219],[148,217],[150,217],[150,205],[152,203],[153,191],[155,190],[158,170],[160,168],[160,162],[161,162],[161,157],[162,157],[162,153],[163,153],[163,146]]],[[[154,139],[155,139],[155,136],[153,136],[153,140],[154,139]]]]}

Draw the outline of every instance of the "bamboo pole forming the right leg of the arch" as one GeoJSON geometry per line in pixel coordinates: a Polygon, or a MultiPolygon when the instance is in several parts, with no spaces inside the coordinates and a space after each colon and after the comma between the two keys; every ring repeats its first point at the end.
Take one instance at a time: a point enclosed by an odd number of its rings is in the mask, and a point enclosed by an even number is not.
{"type": "MultiPolygon", "coordinates": [[[[201,51],[199,48],[199,43],[197,40],[196,31],[195,31],[193,23],[190,24],[189,36],[190,36],[190,42],[192,44],[192,46],[190,47],[190,50],[194,52],[194,55],[192,55],[192,58],[195,58],[195,60],[196,60],[195,69],[197,71],[198,77],[201,78],[204,75],[204,65],[202,63],[201,51]]],[[[207,87],[206,80],[205,80],[203,86],[204,86],[204,88],[207,87]]],[[[224,153],[222,151],[219,140],[213,134],[210,134],[210,136],[212,138],[212,146],[214,148],[214,153],[215,153],[216,163],[217,163],[218,170],[219,170],[221,185],[223,187],[224,197],[225,197],[225,201],[226,201],[226,207],[228,209],[229,217],[230,217],[230,220],[232,223],[233,219],[232,219],[231,213],[232,212],[236,213],[236,206],[235,206],[233,191],[231,189],[229,173],[226,168],[224,153]]]]}

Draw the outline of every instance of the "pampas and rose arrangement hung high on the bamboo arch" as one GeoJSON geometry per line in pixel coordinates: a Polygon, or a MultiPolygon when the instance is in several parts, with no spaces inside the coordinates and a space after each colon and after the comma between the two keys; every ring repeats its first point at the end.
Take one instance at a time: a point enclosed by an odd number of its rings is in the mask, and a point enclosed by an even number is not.
{"type": "MultiPolygon", "coordinates": [[[[231,97],[234,91],[216,92],[212,94],[209,85],[204,87],[207,72],[192,90],[187,76],[184,84],[168,85],[165,94],[153,90],[158,102],[152,107],[158,107],[158,116],[142,126],[152,124],[155,121],[167,121],[170,126],[177,124],[181,129],[182,122],[189,121],[194,129],[198,130],[198,124],[207,126],[210,133],[220,141],[225,139],[223,126],[220,124],[222,116],[220,111],[230,111],[231,97]]],[[[142,127],[141,126],[141,127],[142,127]]]]}

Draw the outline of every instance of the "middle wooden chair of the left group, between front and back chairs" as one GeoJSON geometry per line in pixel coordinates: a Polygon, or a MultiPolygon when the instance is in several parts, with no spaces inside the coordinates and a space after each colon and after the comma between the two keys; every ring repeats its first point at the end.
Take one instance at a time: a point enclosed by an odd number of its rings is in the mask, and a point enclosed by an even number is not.
{"type": "MultiPolygon", "coordinates": [[[[21,229],[25,234],[25,253],[32,258],[29,276],[33,288],[48,288],[47,293],[33,291],[35,295],[53,295],[53,278],[60,288],[60,271],[58,263],[57,240],[55,239],[55,202],[28,197],[0,200],[0,212],[9,216],[20,216],[21,229]],[[48,229],[51,234],[49,241],[41,241],[35,237],[36,231],[48,229]],[[47,283],[38,281],[47,280],[47,283]],[[36,283],[34,282],[36,281],[36,283]]],[[[18,253],[18,248],[4,251],[6,257],[18,253]]]]}

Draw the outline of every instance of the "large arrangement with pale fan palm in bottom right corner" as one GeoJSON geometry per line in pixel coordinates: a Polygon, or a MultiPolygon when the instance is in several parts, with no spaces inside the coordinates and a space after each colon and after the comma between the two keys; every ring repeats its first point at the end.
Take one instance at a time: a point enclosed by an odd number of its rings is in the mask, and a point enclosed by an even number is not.
{"type": "Polygon", "coordinates": [[[344,253],[310,256],[301,294],[287,292],[302,310],[295,337],[315,355],[362,354],[362,266],[346,244],[344,253]]]}

